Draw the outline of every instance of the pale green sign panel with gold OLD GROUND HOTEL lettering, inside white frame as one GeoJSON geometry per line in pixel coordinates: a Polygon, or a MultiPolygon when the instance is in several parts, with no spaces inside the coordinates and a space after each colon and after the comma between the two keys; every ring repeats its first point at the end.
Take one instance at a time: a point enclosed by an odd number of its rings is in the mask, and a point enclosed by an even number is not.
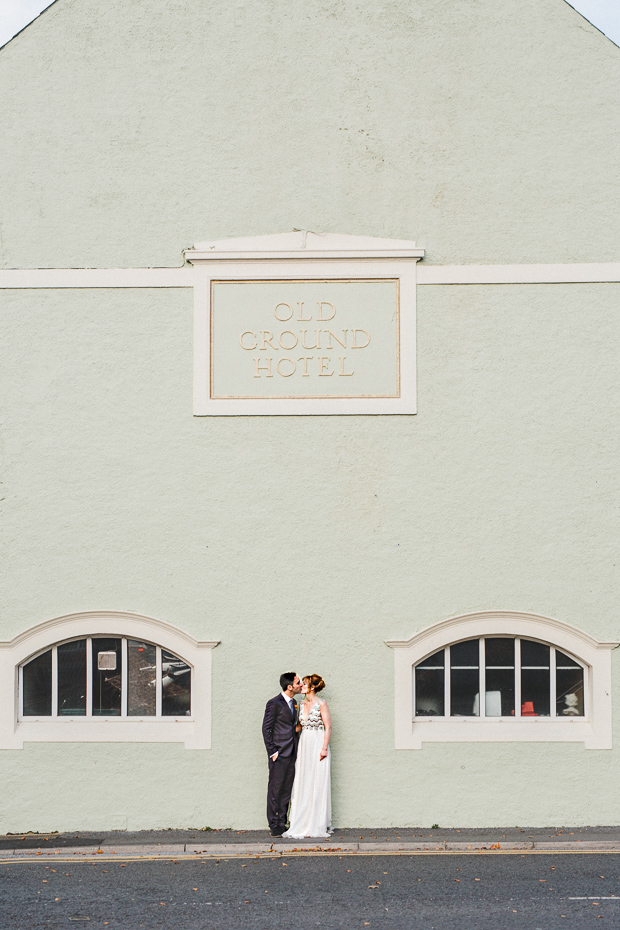
{"type": "Polygon", "coordinates": [[[214,400],[399,397],[399,281],[211,281],[214,400]]]}

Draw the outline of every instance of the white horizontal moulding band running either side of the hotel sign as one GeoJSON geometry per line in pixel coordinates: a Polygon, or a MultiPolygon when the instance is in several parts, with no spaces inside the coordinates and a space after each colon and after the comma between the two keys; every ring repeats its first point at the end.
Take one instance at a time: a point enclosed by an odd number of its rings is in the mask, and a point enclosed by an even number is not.
{"type": "MultiPolygon", "coordinates": [[[[417,283],[427,284],[613,284],[620,262],[569,265],[425,265],[417,283]]],[[[194,269],[10,268],[0,270],[0,289],[193,287],[194,269]]]]}

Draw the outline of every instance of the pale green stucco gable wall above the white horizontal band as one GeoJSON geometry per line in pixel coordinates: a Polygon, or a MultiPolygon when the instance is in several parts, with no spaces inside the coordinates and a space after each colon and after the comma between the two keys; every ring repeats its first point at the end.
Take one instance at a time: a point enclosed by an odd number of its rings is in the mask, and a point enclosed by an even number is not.
{"type": "Polygon", "coordinates": [[[0,267],[292,228],[614,261],[619,82],[565,0],[57,0],[0,52],[0,267]]]}

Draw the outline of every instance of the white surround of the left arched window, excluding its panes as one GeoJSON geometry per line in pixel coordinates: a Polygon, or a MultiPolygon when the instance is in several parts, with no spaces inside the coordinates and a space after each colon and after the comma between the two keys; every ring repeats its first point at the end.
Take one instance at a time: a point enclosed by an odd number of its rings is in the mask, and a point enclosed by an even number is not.
{"type": "Polygon", "coordinates": [[[26,742],[182,742],[186,749],[211,748],[211,652],[217,641],[201,642],[152,617],[125,611],[88,611],[47,620],[0,642],[0,748],[26,742]],[[152,643],[191,668],[191,716],[94,717],[21,715],[21,669],[60,643],[89,638],[122,638],[152,643]]]}

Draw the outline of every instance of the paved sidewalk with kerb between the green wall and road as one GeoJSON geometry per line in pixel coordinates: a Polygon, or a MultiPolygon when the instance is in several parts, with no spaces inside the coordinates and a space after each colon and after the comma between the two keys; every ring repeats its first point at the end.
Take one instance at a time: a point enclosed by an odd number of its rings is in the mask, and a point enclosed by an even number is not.
{"type": "Polygon", "coordinates": [[[148,830],[109,833],[26,833],[0,836],[0,859],[15,856],[86,858],[228,857],[321,853],[468,852],[476,850],[620,853],[620,827],[336,830],[326,840],[274,839],[263,830],[148,830]]]}

